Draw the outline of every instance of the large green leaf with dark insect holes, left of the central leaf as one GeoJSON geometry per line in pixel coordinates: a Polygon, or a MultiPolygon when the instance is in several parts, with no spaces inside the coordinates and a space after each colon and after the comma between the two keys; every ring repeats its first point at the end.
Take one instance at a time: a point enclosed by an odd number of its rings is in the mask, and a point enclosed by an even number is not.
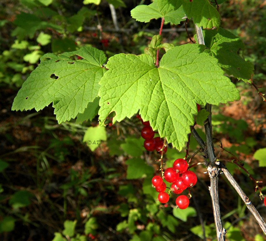
{"type": "Polygon", "coordinates": [[[98,96],[105,54],[92,47],[45,54],[14,99],[12,110],[42,110],[53,102],[58,123],[83,113],[98,96]]]}

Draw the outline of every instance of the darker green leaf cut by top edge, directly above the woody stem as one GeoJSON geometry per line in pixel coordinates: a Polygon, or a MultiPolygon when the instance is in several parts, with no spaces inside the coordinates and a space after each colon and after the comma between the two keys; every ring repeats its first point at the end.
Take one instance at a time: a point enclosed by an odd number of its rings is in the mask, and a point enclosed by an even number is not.
{"type": "Polygon", "coordinates": [[[220,26],[220,14],[208,0],[182,0],[182,5],[187,18],[192,18],[198,27],[212,29],[220,26]]]}

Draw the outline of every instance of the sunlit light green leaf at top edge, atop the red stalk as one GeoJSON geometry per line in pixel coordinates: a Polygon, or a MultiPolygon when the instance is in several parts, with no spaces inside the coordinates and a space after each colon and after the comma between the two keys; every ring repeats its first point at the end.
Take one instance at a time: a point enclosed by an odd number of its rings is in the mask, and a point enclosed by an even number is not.
{"type": "Polygon", "coordinates": [[[179,24],[185,16],[180,0],[154,0],[150,5],[137,6],[130,13],[132,18],[145,23],[153,18],[164,18],[166,22],[179,24]]]}

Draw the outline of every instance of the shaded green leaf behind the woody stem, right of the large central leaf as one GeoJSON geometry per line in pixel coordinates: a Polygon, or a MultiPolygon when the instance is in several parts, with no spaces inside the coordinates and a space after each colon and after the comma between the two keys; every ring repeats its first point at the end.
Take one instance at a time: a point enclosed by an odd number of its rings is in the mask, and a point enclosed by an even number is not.
{"type": "MultiPolygon", "coordinates": [[[[253,64],[239,56],[239,49],[244,50],[245,45],[240,38],[226,29],[204,31],[206,46],[210,48],[213,57],[228,75],[247,82],[253,75],[253,64]]],[[[250,81],[249,81],[250,82],[250,81]]]]}

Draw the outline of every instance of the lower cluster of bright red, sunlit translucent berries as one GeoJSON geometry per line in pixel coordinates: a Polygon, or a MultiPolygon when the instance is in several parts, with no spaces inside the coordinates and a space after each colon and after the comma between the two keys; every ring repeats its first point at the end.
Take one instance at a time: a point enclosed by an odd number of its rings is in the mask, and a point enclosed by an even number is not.
{"type": "MultiPolygon", "coordinates": [[[[171,183],[170,190],[175,194],[182,193],[188,187],[193,187],[197,182],[197,176],[194,172],[187,170],[188,164],[184,159],[176,159],[173,167],[164,171],[164,179],[171,183]]],[[[151,180],[153,187],[159,192],[158,200],[160,203],[169,201],[169,192],[165,192],[166,184],[160,176],[154,176],[151,180]]],[[[176,208],[185,209],[188,207],[189,199],[186,195],[180,195],[176,198],[176,208]]]]}

